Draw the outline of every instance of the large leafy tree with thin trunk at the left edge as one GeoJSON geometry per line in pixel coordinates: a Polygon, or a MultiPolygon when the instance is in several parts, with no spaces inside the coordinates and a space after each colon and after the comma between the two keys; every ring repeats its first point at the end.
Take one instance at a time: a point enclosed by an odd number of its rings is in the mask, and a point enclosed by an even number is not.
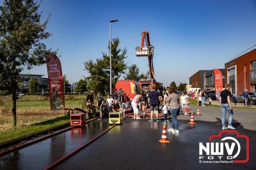
{"type": "Polygon", "coordinates": [[[0,6],[0,89],[12,93],[13,128],[16,127],[16,89],[19,73],[24,66],[30,69],[45,63],[51,54],[42,40],[49,38],[45,31],[49,17],[40,21],[40,3],[33,0],[4,0],[0,6]]]}

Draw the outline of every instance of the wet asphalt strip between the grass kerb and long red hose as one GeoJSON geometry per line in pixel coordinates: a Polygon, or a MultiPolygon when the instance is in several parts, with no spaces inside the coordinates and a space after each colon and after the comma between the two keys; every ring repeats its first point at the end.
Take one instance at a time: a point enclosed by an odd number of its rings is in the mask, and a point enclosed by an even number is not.
{"type": "Polygon", "coordinates": [[[109,127],[108,121],[93,121],[82,128],[33,144],[0,157],[0,169],[44,169],[109,127]]]}

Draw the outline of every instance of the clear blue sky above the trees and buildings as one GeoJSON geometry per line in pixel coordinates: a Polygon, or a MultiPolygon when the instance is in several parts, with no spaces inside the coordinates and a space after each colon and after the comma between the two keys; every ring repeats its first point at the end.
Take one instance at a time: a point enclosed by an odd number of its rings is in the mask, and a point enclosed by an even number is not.
{"type": "MultiPolygon", "coordinates": [[[[45,19],[51,13],[47,47],[58,49],[68,81],[79,81],[88,73],[83,62],[108,52],[109,20],[113,37],[126,47],[127,62],[147,72],[147,58],[134,54],[141,32],[148,30],[154,45],[157,81],[187,82],[188,73],[223,68],[240,52],[256,44],[256,1],[67,1],[44,0],[45,19]]],[[[24,70],[42,73],[46,66],[24,70]]]]}

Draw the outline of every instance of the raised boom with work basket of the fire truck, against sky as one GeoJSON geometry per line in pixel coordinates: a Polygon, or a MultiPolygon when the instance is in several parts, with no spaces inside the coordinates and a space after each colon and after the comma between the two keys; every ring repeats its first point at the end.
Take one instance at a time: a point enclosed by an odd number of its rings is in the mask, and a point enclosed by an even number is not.
{"type": "Polygon", "coordinates": [[[153,56],[154,56],[154,47],[150,45],[149,32],[143,31],[141,33],[141,45],[136,47],[136,56],[147,56],[148,57],[148,67],[150,72],[150,79],[155,81],[154,77],[154,66],[153,66],[153,56]]]}

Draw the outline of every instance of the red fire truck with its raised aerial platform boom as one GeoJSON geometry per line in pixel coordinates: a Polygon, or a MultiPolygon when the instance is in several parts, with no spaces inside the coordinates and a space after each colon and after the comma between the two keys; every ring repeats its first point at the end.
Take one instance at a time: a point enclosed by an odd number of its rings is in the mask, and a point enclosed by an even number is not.
{"type": "Polygon", "coordinates": [[[122,101],[131,102],[132,98],[138,93],[142,94],[143,101],[148,105],[148,93],[153,89],[163,89],[163,84],[156,82],[154,77],[154,66],[153,66],[153,56],[154,47],[150,44],[149,32],[143,31],[141,33],[141,45],[136,47],[136,56],[138,57],[148,57],[148,67],[149,75],[148,79],[136,81],[117,81],[115,87],[115,93],[113,93],[114,98],[118,97],[122,101]],[[117,97],[116,97],[117,96],[117,97]]]}

